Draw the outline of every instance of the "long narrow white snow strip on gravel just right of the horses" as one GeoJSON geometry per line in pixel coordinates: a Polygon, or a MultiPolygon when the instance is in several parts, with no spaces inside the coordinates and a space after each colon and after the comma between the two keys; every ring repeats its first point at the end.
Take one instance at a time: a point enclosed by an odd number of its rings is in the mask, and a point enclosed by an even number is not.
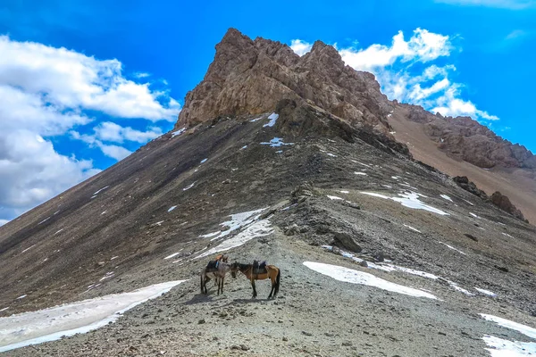
{"type": "Polygon", "coordinates": [[[398,294],[437,299],[434,295],[426,293],[422,290],[391,283],[390,281],[377,278],[373,274],[365,273],[364,271],[348,269],[338,265],[325,264],[322,262],[304,262],[304,265],[311,270],[323,275],[327,275],[328,277],[339,281],[352,284],[361,284],[365,286],[375,286],[398,294]]]}

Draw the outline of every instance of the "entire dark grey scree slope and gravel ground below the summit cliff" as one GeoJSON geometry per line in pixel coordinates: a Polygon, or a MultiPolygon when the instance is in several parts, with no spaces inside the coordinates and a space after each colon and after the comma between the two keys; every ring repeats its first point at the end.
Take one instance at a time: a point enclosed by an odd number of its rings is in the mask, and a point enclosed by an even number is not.
{"type": "Polygon", "coordinates": [[[270,114],[161,137],[15,220],[19,230],[3,227],[3,316],[189,279],[105,328],[5,355],[485,356],[484,335],[529,340],[478,314],[534,326],[533,226],[381,137],[356,133],[349,142],[329,120],[312,127],[322,136],[285,135],[291,123],[266,126],[270,114]],[[200,295],[207,258],[197,256],[246,228],[200,236],[229,228],[230,214],[260,209],[273,232],[228,253],[279,266],[280,296],[265,300],[270,286],[261,281],[251,300],[242,276],[228,278],[223,295],[214,287],[200,295]],[[374,269],[382,258],[440,278],[374,269]],[[304,262],[366,271],[438,299],[337,281],[304,262]]]}

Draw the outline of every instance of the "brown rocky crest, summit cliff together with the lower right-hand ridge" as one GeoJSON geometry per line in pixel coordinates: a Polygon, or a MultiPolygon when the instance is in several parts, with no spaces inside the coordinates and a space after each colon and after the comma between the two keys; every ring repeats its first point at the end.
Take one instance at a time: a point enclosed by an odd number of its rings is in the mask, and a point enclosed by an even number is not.
{"type": "Polygon", "coordinates": [[[481,168],[536,169],[536,157],[469,117],[442,117],[420,106],[390,102],[373,74],[345,65],[337,50],[316,41],[298,56],[289,46],[229,29],[216,45],[205,78],[188,92],[175,129],[219,116],[272,112],[281,99],[322,109],[350,125],[389,135],[388,115],[407,109],[408,120],[423,125],[438,148],[456,160],[481,168]]]}

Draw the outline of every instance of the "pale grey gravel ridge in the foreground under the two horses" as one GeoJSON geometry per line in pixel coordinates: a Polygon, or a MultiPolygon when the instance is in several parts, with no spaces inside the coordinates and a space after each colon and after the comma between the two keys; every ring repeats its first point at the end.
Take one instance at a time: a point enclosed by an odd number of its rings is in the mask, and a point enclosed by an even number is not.
{"type": "Polygon", "coordinates": [[[188,282],[127,312],[113,325],[6,355],[487,356],[482,341],[486,334],[527,338],[482,320],[478,313],[533,322],[500,295],[470,297],[403,273],[373,272],[429,289],[440,300],[336,281],[303,262],[367,269],[279,229],[237,248],[231,258],[247,262],[256,256],[282,270],[281,292],[274,300],[264,298],[270,290],[267,281],[257,282],[260,296],[250,299],[251,287],[243,276],[228,278],[223,295],[215,295],[215,288],[200,295],[196,270],[203,262],[198,262],[166,274],[170,279],[190,278],[188,282]]]}

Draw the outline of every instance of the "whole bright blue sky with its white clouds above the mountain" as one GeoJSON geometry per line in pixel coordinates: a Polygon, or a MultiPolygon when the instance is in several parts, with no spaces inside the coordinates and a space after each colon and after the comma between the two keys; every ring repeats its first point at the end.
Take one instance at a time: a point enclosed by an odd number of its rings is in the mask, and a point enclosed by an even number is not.
{"type": "Polygon", "coordinates": [[[0,225],[172,129],[230,27],[296,50],[321,39],[392,99],[536,152],[534,19],[532,0],[3,1],[0,225]]]}

